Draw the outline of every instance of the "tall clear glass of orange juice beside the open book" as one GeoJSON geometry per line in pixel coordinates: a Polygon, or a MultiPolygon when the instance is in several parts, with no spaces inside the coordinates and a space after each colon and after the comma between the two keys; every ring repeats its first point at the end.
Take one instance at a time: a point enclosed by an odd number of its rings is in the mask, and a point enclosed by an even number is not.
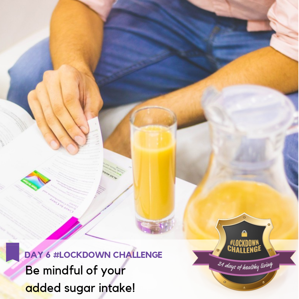
{"type": "Polygon", "coordinates": [[[176,116],[162,107],[144,107],[131,118],[136,223],[151,234],[174,224],[176,116]]]}

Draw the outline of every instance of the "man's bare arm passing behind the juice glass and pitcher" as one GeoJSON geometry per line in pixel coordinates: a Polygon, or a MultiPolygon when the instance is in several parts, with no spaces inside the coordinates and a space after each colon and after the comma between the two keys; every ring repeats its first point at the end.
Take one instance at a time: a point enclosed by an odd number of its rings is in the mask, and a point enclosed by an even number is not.
{"type": "Polygon", "coordinates": [[[209,77],[169,94],[137,105],[116,127],[104,147],[130,157],[129,118],[142,106],[162,106],[175,112],[178,128],[205,121],[201,106],[202,93],[208,86],[222,89],[235,84],[257,84],[285,94],[298,90],[298,62],[266,47],[239,57],[209,77]]]}

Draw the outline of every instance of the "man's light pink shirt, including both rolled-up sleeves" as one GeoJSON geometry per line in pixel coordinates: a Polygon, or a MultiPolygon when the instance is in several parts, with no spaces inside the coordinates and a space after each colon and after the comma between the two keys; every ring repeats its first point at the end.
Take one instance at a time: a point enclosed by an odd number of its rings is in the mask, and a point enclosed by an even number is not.
{"type": "MultiPolygon", "coordinates": [[[[79,0],[103,21],[115,0],[79,0]]],[[[273,29],[270,46],[298,61],[298,0],[188,0],[217,16],[247,20],[248,31],[273,29]]]]}

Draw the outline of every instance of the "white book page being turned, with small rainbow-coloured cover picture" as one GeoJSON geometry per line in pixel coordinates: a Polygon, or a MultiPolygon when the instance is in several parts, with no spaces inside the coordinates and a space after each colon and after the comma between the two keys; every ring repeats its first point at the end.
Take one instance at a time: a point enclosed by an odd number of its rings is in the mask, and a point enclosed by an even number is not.
{"type": "Polygon", "coordinates": [[[83,215],[103,167],[97,118],[89,129],[87,143],[73,156],[51,149],[36,124],[1,149],[0,239],[46,239],[83,215]]]}

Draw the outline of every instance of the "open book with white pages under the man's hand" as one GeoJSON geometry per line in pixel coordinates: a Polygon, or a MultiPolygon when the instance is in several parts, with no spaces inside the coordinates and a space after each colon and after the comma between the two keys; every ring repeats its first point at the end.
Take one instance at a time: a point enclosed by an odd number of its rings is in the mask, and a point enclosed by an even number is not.
{"type": "Polygon", "coordinates": [[[132,186],[131,160],[103,149],[97,118],[89,129],[76,155],[53,150],[24,109],[0,100],[0,239],[28,251],[41,245],[28,240],[68,238],[132,186]]]}

